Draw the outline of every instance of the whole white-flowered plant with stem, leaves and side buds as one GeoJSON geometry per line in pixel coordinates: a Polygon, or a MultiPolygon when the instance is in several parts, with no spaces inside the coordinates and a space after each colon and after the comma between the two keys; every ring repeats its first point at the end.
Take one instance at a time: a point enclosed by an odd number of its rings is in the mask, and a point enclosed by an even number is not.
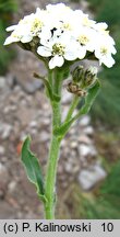
{"type": "Polygon", "coordinates": [[[83,59],[96,59],[99,65],[112,67],[112,55],[117,53],[115,41],[109,35],[106,23],[97,23],[81,10],[73,11],[63,3],[48,4],[45,10],[37,8],[35,13],[24,16],[7,31],[12,33],[4,45],[17,43],[23,49],[34,53],[47,68],[46,77],[34,74],[43,80],[52,109],[52,136],[46,179],[37,158],[29,150],[29,137],[23,144],[22,161],[44,203],[46,218],[55,218],[55,185],[61,140],[73,122],[89,111],[99,90],[96,68],[84,69],[77,66],[70,70],[70,67],[76,61],[81,64],[83,59]],[[62,121],[61,89],[68,76],[71,76],[71,81],[67,90],[73,99],[67,117],[62,121]],[[80,99],[83,103],[74,115],[80,99]]]}

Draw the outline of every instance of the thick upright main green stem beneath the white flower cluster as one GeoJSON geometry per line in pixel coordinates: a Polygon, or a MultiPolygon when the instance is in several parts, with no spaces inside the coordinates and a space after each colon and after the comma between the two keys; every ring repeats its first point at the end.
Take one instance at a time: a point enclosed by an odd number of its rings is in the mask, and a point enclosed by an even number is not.
{"type": "MultiPolygon", "coordinates": [[[[51,75],[50,75],[51,76],[51,75]]],[[[55,71],[52,75],[52,91],[61,97],[61,84],[62,84],[62,75],[58,71],[55,71]]],[[[47,203],[45,205],[45,215],[47,219],[55,218],[55,185],[56,185],[56,176],[57,176],[57,163],[59,158],[60,150],[60,140],[58,136],[53,135],[53,129],[56,126],[61,125],[61,102],[60,101],[50,101],[52,108],[52,136],[50,143],[50,150],[48,157],[46,183],[45,183],[45,196],[47,203]]]]}

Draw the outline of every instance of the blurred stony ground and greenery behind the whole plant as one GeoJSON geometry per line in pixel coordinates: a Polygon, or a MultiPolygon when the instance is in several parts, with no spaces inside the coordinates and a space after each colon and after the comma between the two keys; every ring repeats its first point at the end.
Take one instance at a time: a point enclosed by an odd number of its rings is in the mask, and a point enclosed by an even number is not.
{"type": "MultiPolygon", "coordinates": [[[[17,46],[3,47],[5,27],[37,7],[56,0],[0,0],[0,218],[43,218],[43,206],[27,181],[20,154],[27,134],[46,170],[50,106],[43,83],[44,65],[17,46]]],[[[91,18],[105,21],[117,44],[116,65],[100,68],[101,91],[61,145],[57,218],[120,218],[120,1],[67,0],[91,18]]],[[[89,61],[85,61],[88,66],[89,61]]],[[[96,63],[94,63],[96,64],[96,63]]],[[[63,116],[71,94],[63,89],[63,116]]]]}

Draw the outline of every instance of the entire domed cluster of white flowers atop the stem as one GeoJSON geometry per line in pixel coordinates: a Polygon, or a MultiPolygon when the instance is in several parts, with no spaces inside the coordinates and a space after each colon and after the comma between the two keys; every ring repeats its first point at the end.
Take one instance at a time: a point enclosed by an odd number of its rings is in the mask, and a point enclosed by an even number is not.
{"type": "Polygon", "coordinates": [[[73,11],[63,3],[48,4],[46,10],[24,16],[12,31],[4,45],[13,42],[31,43],[38,37],[37,54],[48,58],[49,68],[61,67],[65,60],[83,59],[93,53],[107,67],[112,67],[115,41],[106,23],[96,23],[81,10],[73,11]]]}

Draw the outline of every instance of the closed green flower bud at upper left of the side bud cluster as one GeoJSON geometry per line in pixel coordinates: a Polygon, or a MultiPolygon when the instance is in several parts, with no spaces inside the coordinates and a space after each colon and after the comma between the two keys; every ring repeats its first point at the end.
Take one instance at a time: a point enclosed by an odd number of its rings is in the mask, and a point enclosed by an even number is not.
{"type": "Polygon", "coordinates": [[[72,71],[72,78],[74,82],[80,82],[82,80],[83,76],[83,66],[77,66],[73,71],[72,71]]]}

